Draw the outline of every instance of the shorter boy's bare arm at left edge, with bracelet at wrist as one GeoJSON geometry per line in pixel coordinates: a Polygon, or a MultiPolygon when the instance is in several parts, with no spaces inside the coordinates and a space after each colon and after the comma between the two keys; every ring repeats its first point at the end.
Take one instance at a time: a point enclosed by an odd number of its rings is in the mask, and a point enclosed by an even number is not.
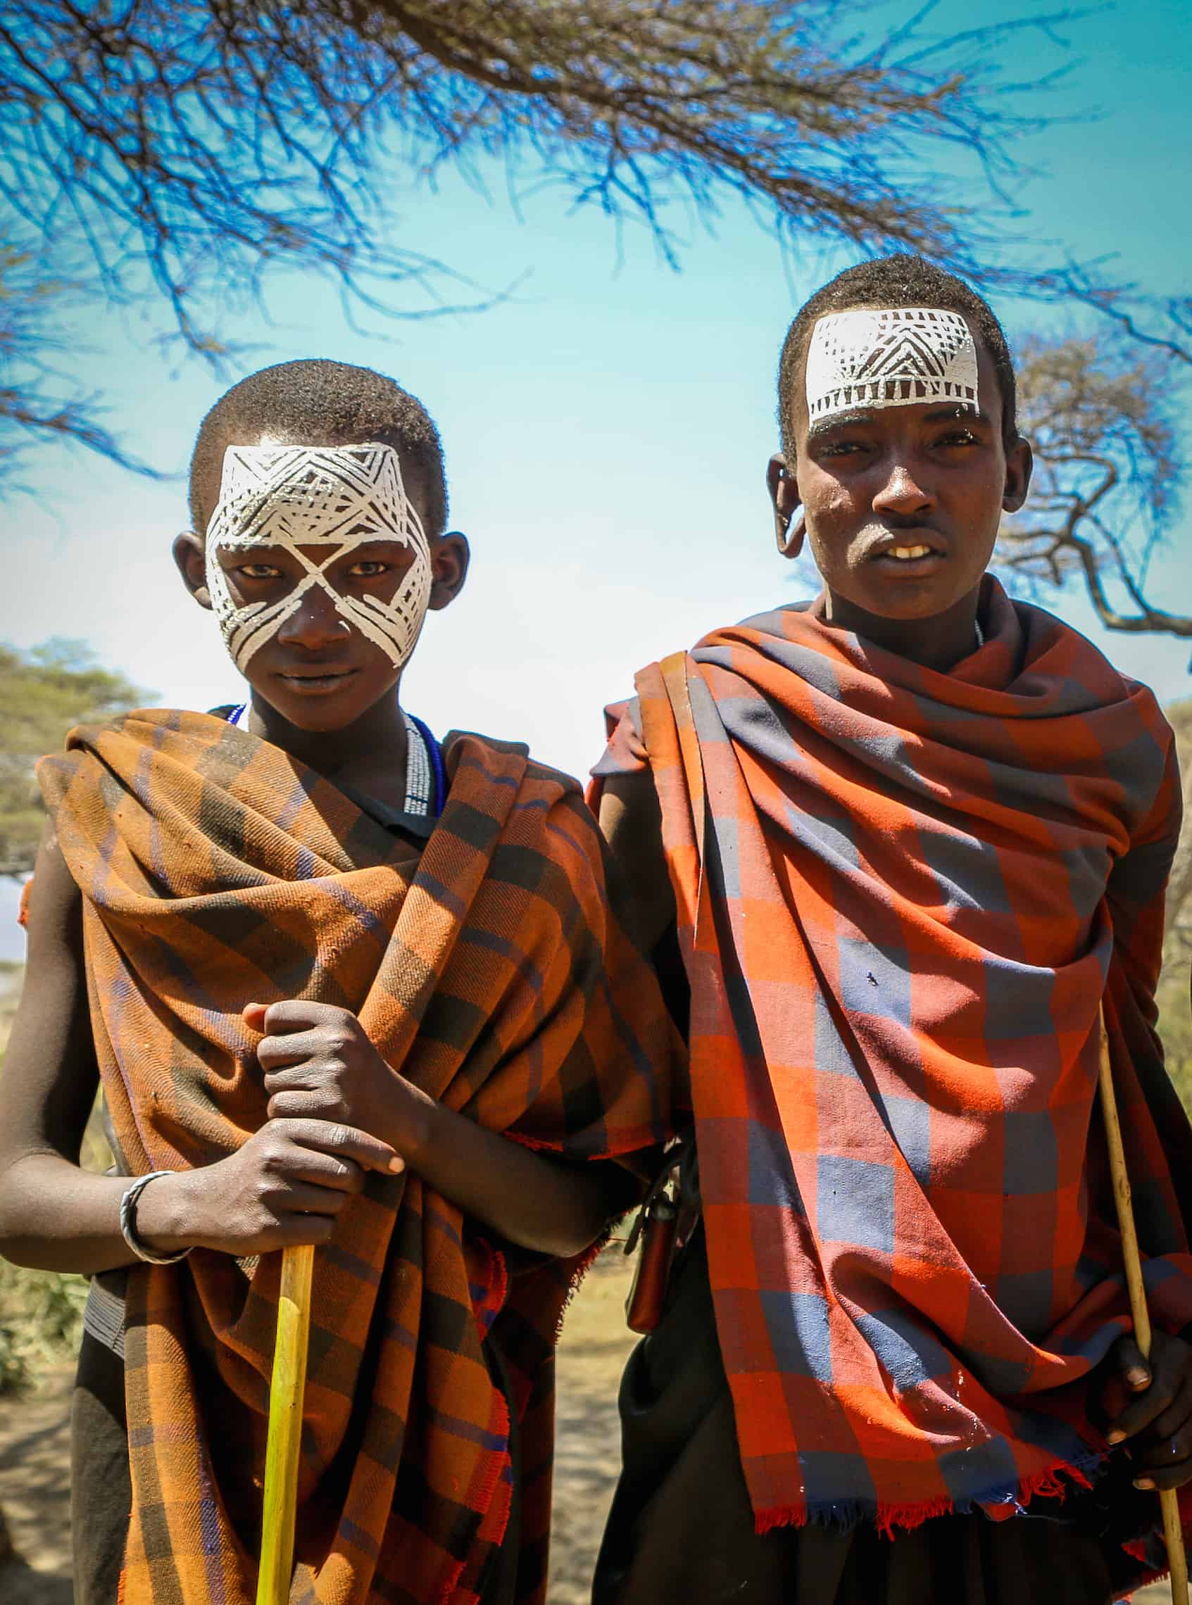
{"type": "MultiPolygon", "coordinates": [[[[79,1167],[98,1080],[82,897],[47,827],[26,985],[0,1075],[0,1254],[18,1265],[88,1273],[136,1260],[120,1236],[127,1178],[79,1167]]],[[[361,1132],[271,1120],[229,1159],[151,1183],[138,1204],[138,1234],[157,1254],[202,1245],[244,1255],[324,1242],[364,1168],[395,1164],[391,1149],[361,1132]]]]}

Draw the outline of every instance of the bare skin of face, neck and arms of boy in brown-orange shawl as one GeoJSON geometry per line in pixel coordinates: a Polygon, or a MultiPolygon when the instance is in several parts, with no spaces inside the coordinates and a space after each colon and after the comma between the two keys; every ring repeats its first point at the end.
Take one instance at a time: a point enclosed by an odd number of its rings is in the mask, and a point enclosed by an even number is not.
{"type": "MultiPolygon", "coordinates": [[[[406,488],[425,525],[425,486],[407,472],[406,488]]],[[[201,486],[207,515],[217,494],[218,485],[201,486]]],[[[327,549],[308,547],[306,555],[322,562],[327,549]]],[[[201,538],[180,534],[175,560],[194,600],[210,608],[201,538]]],[[[292,554],[278,549],[223,552],[220,560],[237,603],[276,600],[302,575],[292,554]]],[[[435,536],[430,560],[430,607],[438,610],[464,586],[465,538],[435,536]]],[[[409,562],[399,542],[367,542],[337,557],[327,578],[340,592],[388,600],[409,562]]],[[[340,618],[326,591],[310,587],[252,656],[247,679],[253,735],[332,782],[401,807],[401,674],[340,618]]],[[[587,1247],[635,1194],[611,1164],[557,1160],[427,1098],[380,1058],[347,1010],[249,1003],[244,1019],[260,1034],[270,1119],[229,1157],[146,1186],[136,1225],[154,1252],[205,1247],[244,1257],[327,1242],[369,1170],[409,1167],[509,1242],[555,1255],[587,1247]]],[[[18,1265],[91,1273],[135,1263],[119,1229],[127,1180],[79,1167],[98,1079],[82,897],[50,825],[35,870],[26,987],[0,1079],[0,1252],[18,1265]]]]}

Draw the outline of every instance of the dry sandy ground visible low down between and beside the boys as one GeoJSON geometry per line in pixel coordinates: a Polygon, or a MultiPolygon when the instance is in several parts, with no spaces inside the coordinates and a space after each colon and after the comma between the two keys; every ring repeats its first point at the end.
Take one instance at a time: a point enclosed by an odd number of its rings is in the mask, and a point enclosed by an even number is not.
{"type": "MultiPolygon", "coordinates": [[[[613,1247],[589,1273],[563,1327],[550,1605],[587,1605],[616,1480],[616,1384],[634,1343],[622,1318],[626,1287],[626,1262],[613,1247]]],[[[71,1605],[67,1403],[67,1371],[50,1372],[29,1398],[0,1400],[0,1507],[22,1557],[0,1563],[0,1605],[71,1605]]],[[[1144,1589],[1134,1600],[1163,1605],[1170,1592],[1144,1589]]]]}

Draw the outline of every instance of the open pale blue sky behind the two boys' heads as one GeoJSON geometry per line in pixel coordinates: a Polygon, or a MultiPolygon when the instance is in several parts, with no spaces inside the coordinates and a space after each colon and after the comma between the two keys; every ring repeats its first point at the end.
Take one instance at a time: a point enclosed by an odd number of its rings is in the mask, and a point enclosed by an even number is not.
{"type": "MultiPolygon", "coordinates": [[[[881,14],[906,16],[887,5],[881,14]]],[[[1022,14],[993,0],[988,21],[1022,14]]],[[[1184,289],[1192,120],[1186,0],[1137,0],[1043,35],[1014,35],[1017,75],[1072,61],[1041,109],[1097,111],[1033,135],[1022,156],[1025,236],[1076,255],[1117,252],[1149,289],[1184,289]]],[[[948,3],[939,27],[967,27],[948,3]]],[[[1024,101],[1024,106],[1027,103],[1024,101]]],[[[464,595],[432,615],[404,700],[432,727],[529,740],[549,762],[586,769],[600,708],[632,672],[706,629],[805,594],[773,552],[762,470],[775,448],[773,371],[799,302],[849,254],[813,241],[794,260],[735,204],[667,270],[650,239],[621,244],[597,212],[568,215],[549,189],[517,217],[451,177],[438,191],[385,175],[399,238],[509,300],[475,316],[348,327],[327,284],[273,282],[270,321],[229,329],[255,342],[242,371],[327,355],[393,374],[422,396],[446,446],[452,523],[473,544],[464,595]],[[526,274],[526,278],[521,278],[526,274]]],[[[1046,308],[998,307],[1011,334],[1068,327],[1046,308]]],[[[202,412],[223,385],[194,361],[162,358],[164,327],[112,316],[80,331],[80,377],[111,396],[109,422],[154,464],[181,470],[202,412]]],[[[210,616],[181,591],[168,557],[186,522],[181,482],[149,483],[64,446],[26,467],[37,494],[0,509],[8,584],[0,639],[83,637],[162,701],[210,706],[237,692],[210,616]]],[[[1192,603],[1192,523],[1171,531],[1157,568],[1173,608],[1192,603]]],[[[1078,591],[1051,603],[1163,698],[1192,693],[1187,642],[1107,636],[1078,591]]],[[[0,907],[0,955],[8,952],[0,907]]]]}

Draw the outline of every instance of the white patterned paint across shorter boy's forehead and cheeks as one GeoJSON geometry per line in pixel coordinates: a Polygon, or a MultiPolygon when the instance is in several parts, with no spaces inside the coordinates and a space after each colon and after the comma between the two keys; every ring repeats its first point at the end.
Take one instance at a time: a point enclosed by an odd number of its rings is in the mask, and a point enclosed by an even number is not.
{"type": "Polygon", "coordinates": [[[207,525],[207,589],[228,652],[241,672],[252,655],[321,586],[335,612],[399,668],[414,650],[430,602],[430,549],[401,483],[393,446],[228,446],[220,499],[207,525]],[[345,597],[327,579],[337,557],[366,541],[399,541],[414,562],[391,602],[345,597]],[[303,546],[327,546],[321,563],[303,546]],[[279,602],[236,607],[218,560],[223,551],[281,547],[305,575],[279,602]]]}

